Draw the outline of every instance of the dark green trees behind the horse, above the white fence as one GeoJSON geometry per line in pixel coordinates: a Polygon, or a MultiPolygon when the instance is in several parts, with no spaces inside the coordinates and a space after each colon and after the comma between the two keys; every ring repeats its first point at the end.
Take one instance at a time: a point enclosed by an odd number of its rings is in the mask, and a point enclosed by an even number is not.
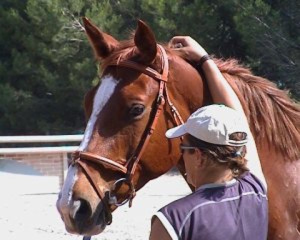
{"type": "Polygon", "coordinates": [[[136,19],[157,40],[190,35],[300,99],[298,0],[1,0],[0,135],[80,132],[97,66],[80,16],[125,39],[136,19]]]}

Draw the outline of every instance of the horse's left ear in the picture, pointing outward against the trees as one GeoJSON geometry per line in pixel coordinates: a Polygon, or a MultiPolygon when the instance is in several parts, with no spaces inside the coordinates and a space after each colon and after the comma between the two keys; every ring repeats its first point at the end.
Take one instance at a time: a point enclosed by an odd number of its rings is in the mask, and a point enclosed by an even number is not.
{"type": "Polygon", "coordinates": [[[86,17],[82,17],[85,32],[97,58],[107,57],[118,44],[112,36],[102,32],[86,17]]]}

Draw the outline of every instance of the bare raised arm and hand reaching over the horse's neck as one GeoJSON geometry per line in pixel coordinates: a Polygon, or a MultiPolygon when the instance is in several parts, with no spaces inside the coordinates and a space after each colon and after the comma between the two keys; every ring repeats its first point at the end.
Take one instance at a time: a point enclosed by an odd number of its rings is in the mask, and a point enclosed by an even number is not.
{"type": "MultiPolygon", "coordinates": [[[[171,47],[180,46],[174,49],[180,51],[186,59],[193,62],[198,62],[200,61],[202,56],[207,55],[207,52],[203,49],[203,47],[201,47],[194,39],[189,36],[175,36],[170,40],[169,44],[171,47]]],[[[225,104],[226,106],[239,111],[244,116],[244,120],[247,122],[242,105],[237,95],[235,94],[229,83],[226,81],[226,79],[223,77],[213,60],[208,59],[204,61],[202,64],[202,70],[205,74],[213,102],[225,104]]],[[[249,168],[250,172],[252,172],[260,181],[264,183],[264,186],[266,187],[265,178],[262,173],[258,153],[256,150],[256,145],[249,128],[247,133],[247,167],[249,168]]]]}

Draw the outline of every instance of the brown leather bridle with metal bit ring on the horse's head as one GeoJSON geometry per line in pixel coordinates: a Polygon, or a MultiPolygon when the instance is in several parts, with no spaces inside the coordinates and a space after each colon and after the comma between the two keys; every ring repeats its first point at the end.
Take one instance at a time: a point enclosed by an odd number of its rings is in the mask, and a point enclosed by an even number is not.
{"type": "Polygon", "coordinates": [[[158,81],[159,83],[159,89],[158,94],[155,102],[155,107],[153,109],[154,115],[150,116],[149,123],[147,127],[145,128],[142,138],[140,139],[134,153],[126,160],[126,163],[120,164],[118,162],[115,162],[111,159],[108,159],[103,156],[99,156],[97,154],[93,154],[90,152],[85,151],[75,151],[72,154],[72,164],[77,163],[80,165],[87,176],[87,179],[89,180],[90,184],[94,188],[95,192],[97,193],[98,197],[101,199],[104,209],[106,212],[106,224],[110,224],[112,217],[111,217],[111,210],[108,206],[108,204],[103,200],[105,197],[108,198],[108,203],[110,205],[120,206],[125,204],[127,201],[129,201],[129,207],[132,205],[132,199],[135,196],[135,187],[133,183],[133,175],[136,169],[136,166],[138,164],[138,161],[140,160],[147,143],[149,142],[150,136],[153,133],[156,123],[158,120],[158,117],[163,110],[163,105],[165,104],[165,100],[168,103],[171,112],[173,114],[173,118],[177,125],[182,124],[182,118],[175,108],[175,106],[171,103],[168,92],[167,92],[167,78],[168,78],[168,58],[167,54],[164,50],[164,48],[157,44],[157,48],[160,50],[161,53],[161,74],[154,70],[151,67],[144,66],[142,64],[136,63],[134,61],[130,60],[123,60],[123,61],[116,61],[109,63],[108,65],[116,65],[116,66],[124,66],[128,68],[133,68],[139,72],[142,72],[150,77],[152,77],[154,80],[158,81]],[[93,179],[92,174],[90,173],[90,170],[87,167],[86,162],[91,161],[95,163],[99,163],[107,168],[110,168],[112,170],[119,171],[123,174],[125,174],[125,177],[117,179],[111,186],[110,190],[105,191],[104,193],[99,189],[96,181],[93,179]],[[111,195],[111,191],[114,190],[117,184],[120,182],[125,182],[129,186],[129,194],[128,197],[125,198],[122,202],[117,202],[116,196],[111,195]]]}

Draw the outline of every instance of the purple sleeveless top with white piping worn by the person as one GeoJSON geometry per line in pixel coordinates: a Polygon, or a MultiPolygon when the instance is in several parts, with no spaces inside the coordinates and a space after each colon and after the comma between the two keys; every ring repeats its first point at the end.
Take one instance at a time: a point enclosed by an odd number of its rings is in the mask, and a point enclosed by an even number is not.
{"type": "Polygon", "coordinates": [[[267,196],[250,172],[226,184],[205,184],[156,214],[172,239],[265,240],[267,196]]]}

